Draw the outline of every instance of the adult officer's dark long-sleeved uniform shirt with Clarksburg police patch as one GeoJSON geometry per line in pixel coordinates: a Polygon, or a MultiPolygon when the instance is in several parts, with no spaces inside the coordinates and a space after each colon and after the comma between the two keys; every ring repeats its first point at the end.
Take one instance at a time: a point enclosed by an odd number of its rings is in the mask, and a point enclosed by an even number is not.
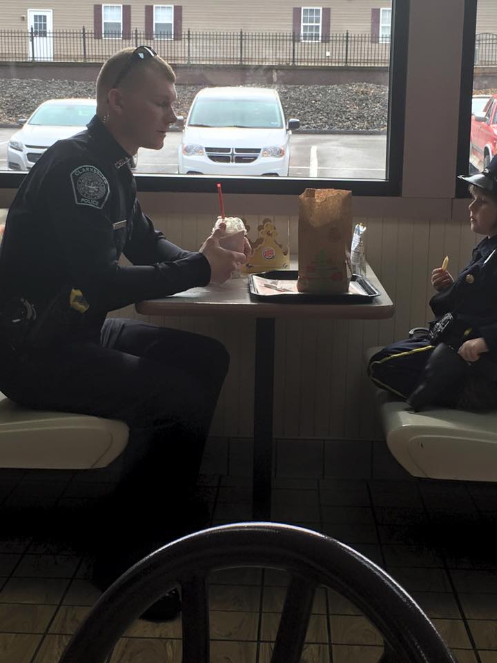
{"type": "Polygon", "coordinates": [[[40,318],[61,291],[81,290],[88,311],[71,338],[97,338],[108,311],[206,285],[202,253],[156,231],[136,199],[129,155],[95,115],[49,148],[10,207],[0,245],[0,310],[24,298],[40,318]],[[118,265],[124,253],[133,266],[118,265]]]}

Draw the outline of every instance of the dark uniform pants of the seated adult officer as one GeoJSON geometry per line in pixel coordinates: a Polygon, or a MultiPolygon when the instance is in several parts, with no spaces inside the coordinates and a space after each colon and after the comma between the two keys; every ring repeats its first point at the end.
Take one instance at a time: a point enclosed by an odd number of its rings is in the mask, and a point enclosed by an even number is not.
{"type": "Polygon", "coordinates": [[[167,528],[195,486],[228,363],[212,338],[109,318],[100,345],[31,353],[3,369],[0,388],[29,407],[126,421],[119,508],[126,518],[134,511],[135,526],[145,529],[149,515],[167,528]]]}

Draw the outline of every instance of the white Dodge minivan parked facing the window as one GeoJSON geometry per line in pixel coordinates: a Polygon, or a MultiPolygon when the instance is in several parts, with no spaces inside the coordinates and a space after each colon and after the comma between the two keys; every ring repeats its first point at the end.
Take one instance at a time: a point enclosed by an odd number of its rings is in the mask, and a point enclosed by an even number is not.
{"type": "Polygon", "coordinates": [[[204,88],[191,105],[178,149],[182,175],[289,174],[290,135],[280,95],[269,88],[204,88]]]}

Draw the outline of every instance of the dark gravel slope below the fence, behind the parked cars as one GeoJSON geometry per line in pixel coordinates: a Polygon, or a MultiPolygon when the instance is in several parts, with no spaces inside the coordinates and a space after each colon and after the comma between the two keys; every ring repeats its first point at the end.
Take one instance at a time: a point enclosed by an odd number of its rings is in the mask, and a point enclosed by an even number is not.
{"type": "MultiPolygon", "coordinates": [[[[177,115],[186,116],[202,87],[177,86],[177,115]]],[[[280,93],[286,117],[300,119],[304,131],[384,131],[387,127],[387,86],[351,83],[269,87],[280,93]]],[[[28,117],[46,99],[94,95],[95,84],[86,81],[0,79],[0,123],[13,124],[18,117],[28,117]]]]}

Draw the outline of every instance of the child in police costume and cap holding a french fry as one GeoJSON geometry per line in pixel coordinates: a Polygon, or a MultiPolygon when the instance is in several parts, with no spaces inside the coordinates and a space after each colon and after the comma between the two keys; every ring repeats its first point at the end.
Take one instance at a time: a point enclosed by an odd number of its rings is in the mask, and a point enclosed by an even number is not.
{"type": "Polygon", "coordinates": [[[429,330],[415,330],[369,363],[373,382],[414,410],[497,407],[497,156],[482,173],[460,178],[470,184],[471,230],[485,238],[456,279],[446,265],[433,269],[429,330]]]}

